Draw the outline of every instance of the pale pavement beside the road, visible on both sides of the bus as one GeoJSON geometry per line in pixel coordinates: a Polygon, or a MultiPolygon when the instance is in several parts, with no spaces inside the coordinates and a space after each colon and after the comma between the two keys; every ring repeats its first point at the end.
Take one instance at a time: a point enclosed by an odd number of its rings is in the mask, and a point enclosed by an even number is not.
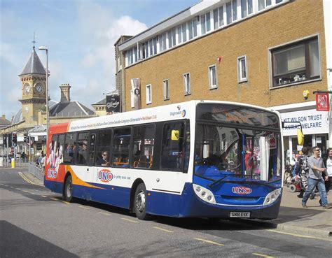
{"type": "MultiPolygon", "coordinates": [[[[25,172],[27,178],[37,185],[43,181],[25,172]]],[[[319,193],[314,199],[307,201],[308,208],[303,208],[298,192],[291,192],[284,186],[279,216],[275,220],[249,220],[263,228],[275,229],[285,234],[321,238],[332,241],[332,208],[324,209],[319,205],[319,193]]],[[[328,203],[332,205],[332,190],[327,195],[328,203]]],[[[242,220],[243,221],[243,220],[242,220]]],[[[244,222],[248,223],[248,221],[244,222]]]]}

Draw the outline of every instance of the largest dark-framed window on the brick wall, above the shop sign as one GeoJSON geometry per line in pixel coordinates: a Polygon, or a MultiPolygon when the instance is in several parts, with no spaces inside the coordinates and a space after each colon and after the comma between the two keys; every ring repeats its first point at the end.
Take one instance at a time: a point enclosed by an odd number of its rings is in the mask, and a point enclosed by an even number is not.
{"type": "Polygon", "coordinates": [[[270,51],[272,87],[320,78],[317,36],[270,51]]]}

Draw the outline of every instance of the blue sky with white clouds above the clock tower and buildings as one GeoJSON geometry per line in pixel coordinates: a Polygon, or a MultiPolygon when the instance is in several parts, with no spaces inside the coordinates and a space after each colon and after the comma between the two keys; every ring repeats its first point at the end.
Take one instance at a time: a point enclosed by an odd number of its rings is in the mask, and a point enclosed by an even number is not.
{"type": "Polygon", "coordinates": [[[20,110],[18,75],[32,53],[46,68],[50,99],[60,101],[63,83],[71,100],[88,108],[115,89],[114,43],[195,5],[200,0],[0,0],[0,115],[20,110]],[[35,34],[35,38],[34,38],[35,34]]]}

